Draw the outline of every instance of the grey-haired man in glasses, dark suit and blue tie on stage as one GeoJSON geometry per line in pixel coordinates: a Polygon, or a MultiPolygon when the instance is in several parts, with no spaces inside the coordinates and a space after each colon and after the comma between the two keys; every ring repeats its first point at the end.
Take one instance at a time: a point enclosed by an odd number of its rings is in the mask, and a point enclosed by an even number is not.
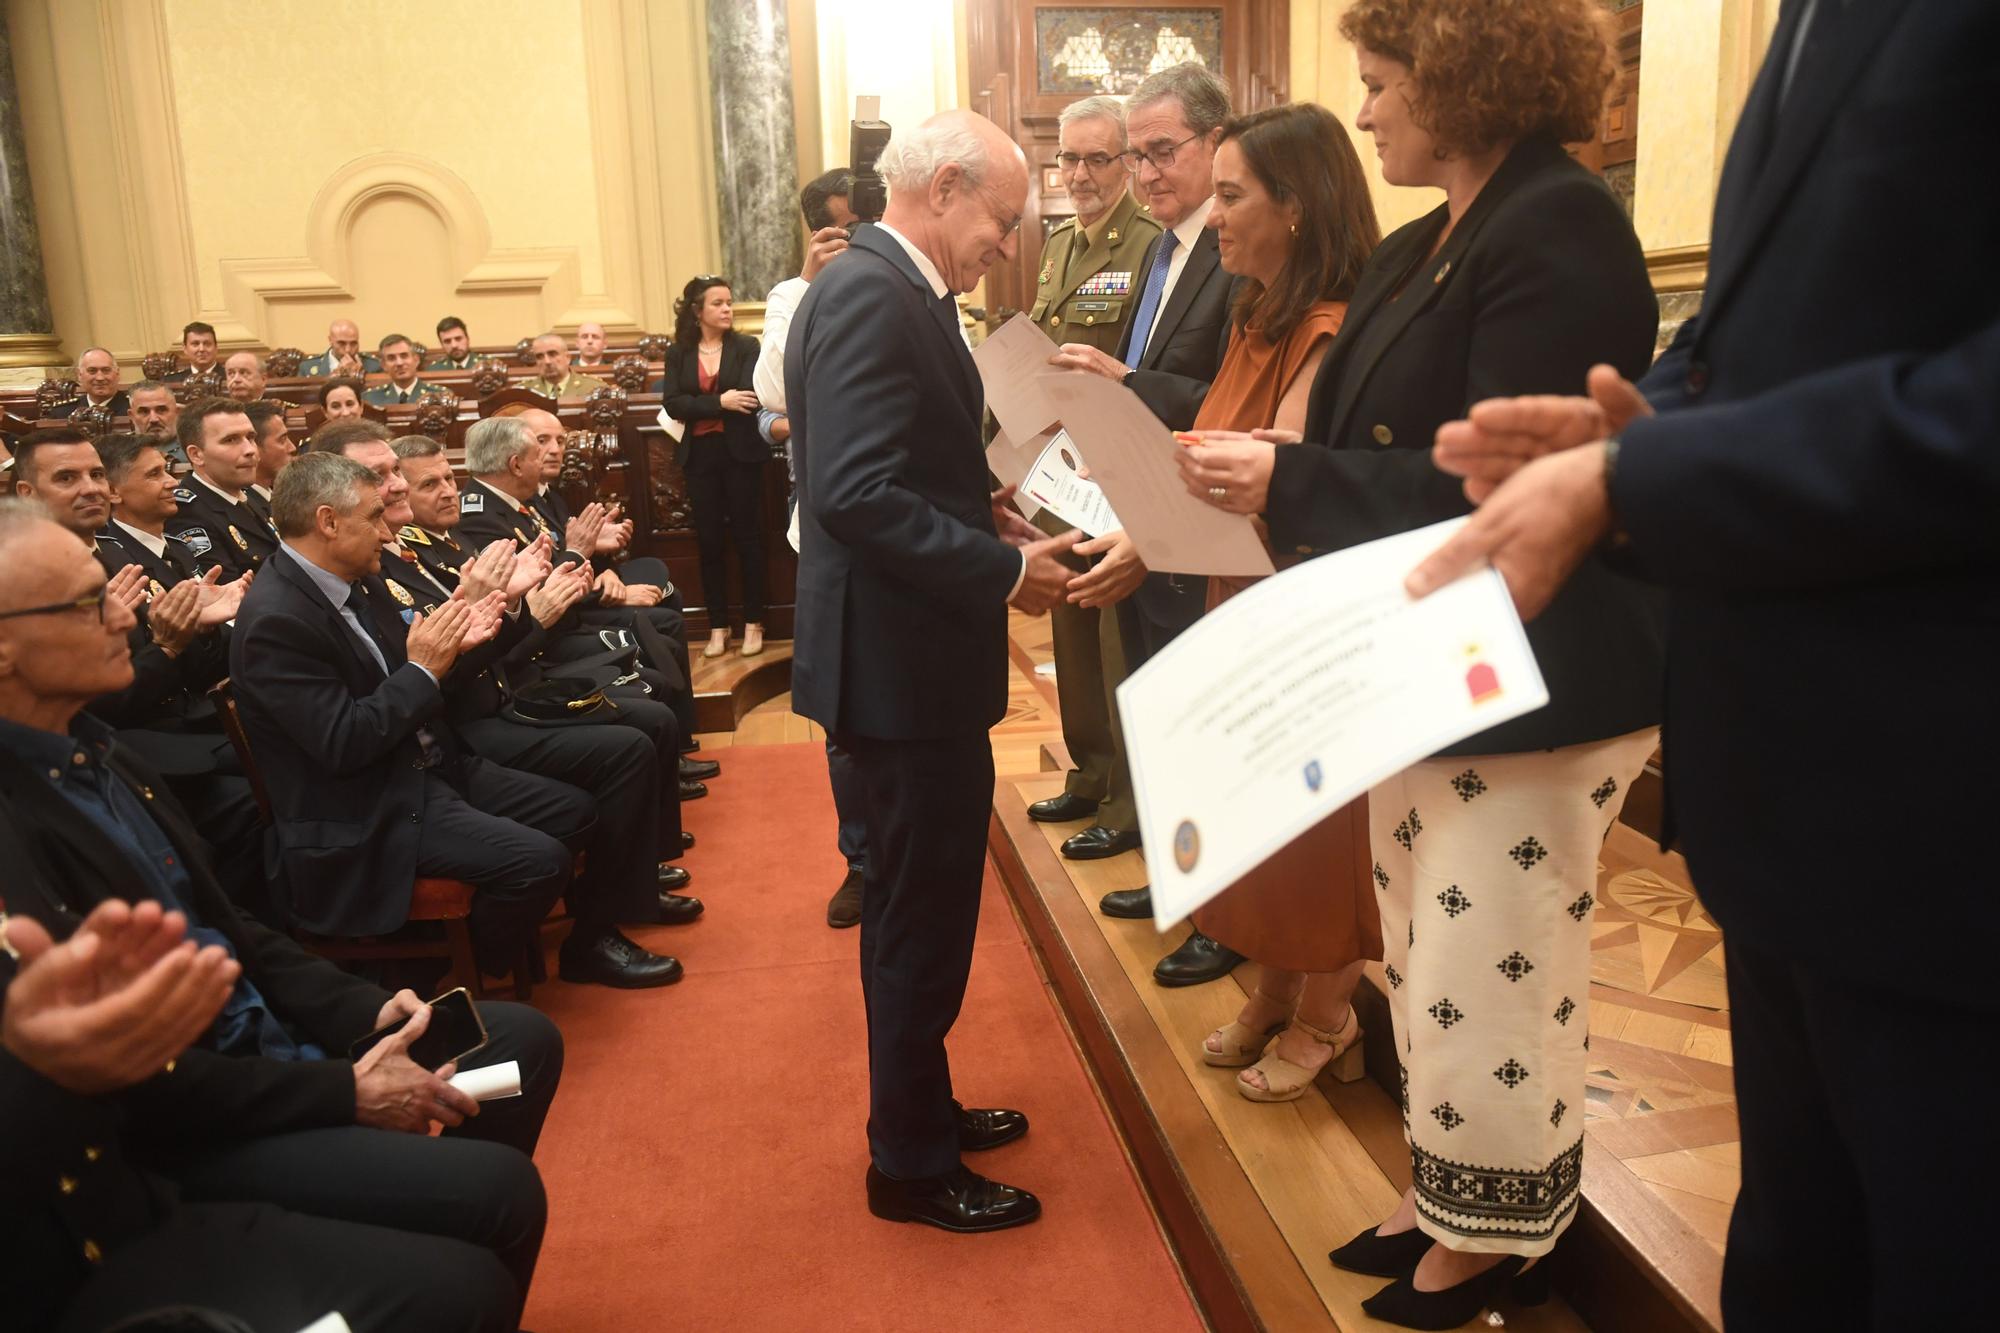
{"type": "MultiPolygon", "coordinates": [[[[1166,230],[1140,260],[1144,278],[1138,306],[1126,324],[1118,354],[1106,356],[1092,346],[1070,342],[1054,358],[1058,366],[1118,380],[1174,430],[1194,426],[1194,414],[1202,408],[1208,384],[1216,378],[1222,352],[1230,344],[1230,306],[1236,302],[1238,286],[1222,270],[1216,234],[1208,228],[1216,144],[1228,118],[1230,86],[1220,74],[1198,64],[1160,70],[1126,98],[1126,136],[1132,142],[1126,162],[1154,222],[1166,230]]],[[[1118,602],[1118,628],[1124,636],[1126,669],[1138,671],[1200,618],[1208,584],[1202,578],[1146,574],[1140,566],[1144,578],[1138,590],[1130,592],[1120,574],[1122,566],[1138,562],[1130,544],[1100,538],[1080,550],[1098,546],[1106,550],[1104,560],[1078,578],[1078,588],[1092,600],[1106,592],[1124,594],[1118,602]]],[[[1138,819],[1130,793],[1114,803],[1110,817],[1138,819]]],[[[1124,851],[1138,843],[1136,831],[1118,829],[1106,819],[1108,815],[1100,811],[1094,827],[1064,843],[1064,855],[1090,855],[1104,845],[1124,851]]],[[[1106,917],[1148,919],[1152,893],[1146,887],[1106,893],[1100,909],[1106,917]]],[[[1186,987],[1226,977],[1238,963],[1242,955],[1234,949],[1190,931],[1178,949],[1160,959],[1152,975],[1160,985],[1186,987]]]]}

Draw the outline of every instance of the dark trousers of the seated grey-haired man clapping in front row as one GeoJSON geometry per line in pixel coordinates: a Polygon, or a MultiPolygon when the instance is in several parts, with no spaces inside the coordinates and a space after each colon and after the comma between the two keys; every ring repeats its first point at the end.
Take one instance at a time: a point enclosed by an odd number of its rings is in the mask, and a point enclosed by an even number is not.
{"type": "Polygon", "coordinates": [[[416,873],[462,879],[472,895],[472,949],[500,977],[534,939],[570,883],[572,851],[596,821],[582,791],[466,755],[456,785],[424,781],[416,873]]]}

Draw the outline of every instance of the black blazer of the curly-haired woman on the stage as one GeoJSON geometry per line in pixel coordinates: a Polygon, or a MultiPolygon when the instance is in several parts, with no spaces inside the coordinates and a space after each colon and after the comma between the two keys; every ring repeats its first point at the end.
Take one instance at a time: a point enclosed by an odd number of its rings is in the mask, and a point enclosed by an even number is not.
{"type": "MultiPolygon", "coordinates": [[[[1304,442],[1278,448],[1272,550],[1322,554],[1466,514],[1460,480],[1430,460],[1438,426],[1482,398],[1580,394],[1600,360],[1630,380],[1652,362],[1660,306],[1638,236],[1560,144],[1516,144],[1432,256],[1444,220],[1440,206],[1368,260],[1312,384],[1304,442]]],[[[1548,707],[1446,755],[1606,741],[1660,721],[1654,588],[1590,558],[1528,642],[1548,707]]]]}

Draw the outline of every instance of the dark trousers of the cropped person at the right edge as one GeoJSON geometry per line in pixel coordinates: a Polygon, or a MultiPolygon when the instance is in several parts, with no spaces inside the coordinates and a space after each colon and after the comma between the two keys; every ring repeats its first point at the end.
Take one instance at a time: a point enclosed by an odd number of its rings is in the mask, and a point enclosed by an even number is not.
{"type": "Polygon", "coordinates": [[[2000,1247],[2000,1221],[1976,1109],[2000,1091],[1982,1055],[1992,1007],[1736,937],[1726,967],[1742,1125],[1722,1259],[1730,1333],[1990,1319],[1980,1257],[2000,1247]],[[1940,1113],[1940,1097],[1968,1119],[1940,1113]]]}

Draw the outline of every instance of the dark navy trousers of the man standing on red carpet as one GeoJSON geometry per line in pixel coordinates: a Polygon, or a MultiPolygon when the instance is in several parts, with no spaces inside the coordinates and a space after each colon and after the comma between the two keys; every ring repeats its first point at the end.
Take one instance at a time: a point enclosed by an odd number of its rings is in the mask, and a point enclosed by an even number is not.
{"type": "Polygon", "coordinates": [[[898,1179],[958,1167],[944,1037],[972,971],[994,797],[986,733],[948,741],[840,737],[868,827],[862,1003],[868,1011],[868,1151],[898,1179]]]}

